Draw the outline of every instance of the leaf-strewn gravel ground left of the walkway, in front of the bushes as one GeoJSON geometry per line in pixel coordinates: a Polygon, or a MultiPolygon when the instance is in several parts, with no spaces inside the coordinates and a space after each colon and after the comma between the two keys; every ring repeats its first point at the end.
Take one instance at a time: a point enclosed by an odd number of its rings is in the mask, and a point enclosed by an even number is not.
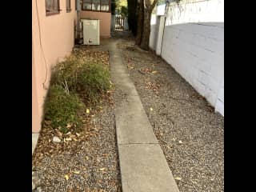
{"type": "Polygon", "coordinates": [[[85,128],[72,141],[63,142],[56,130],[42,129],[32,157],[34,191],[122,191],[113,101],[109,93],[84,114],[85,128]],[[54,136],[62,142],[52,142],[54,136]]]}

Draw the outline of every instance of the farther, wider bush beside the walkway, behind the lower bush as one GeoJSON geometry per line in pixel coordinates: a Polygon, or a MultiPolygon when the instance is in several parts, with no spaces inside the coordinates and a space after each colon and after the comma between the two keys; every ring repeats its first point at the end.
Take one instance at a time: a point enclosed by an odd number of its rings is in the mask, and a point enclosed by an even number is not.
{"type": "Polygon", "coordinates": [[[110,72],[102,64],[86,64],[82,59],[70,57],[55,67],[52,83],[66,86],[83,94],[87,102],[95,103],[110,89],[110,72]]]}

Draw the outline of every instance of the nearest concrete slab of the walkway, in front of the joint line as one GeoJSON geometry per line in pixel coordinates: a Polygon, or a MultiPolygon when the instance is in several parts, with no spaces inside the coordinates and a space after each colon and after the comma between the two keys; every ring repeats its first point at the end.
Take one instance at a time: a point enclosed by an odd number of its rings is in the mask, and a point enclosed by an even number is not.
{"type": "Polygon", "coordinates": [[[118,145],[123,192],[178,192],[159,145],[118,145]]]}

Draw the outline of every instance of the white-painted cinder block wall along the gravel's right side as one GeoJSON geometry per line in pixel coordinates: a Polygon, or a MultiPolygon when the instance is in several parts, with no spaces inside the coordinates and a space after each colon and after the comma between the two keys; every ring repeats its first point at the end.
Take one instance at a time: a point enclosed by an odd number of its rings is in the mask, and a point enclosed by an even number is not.
{"type": "Polygon", "coordinates": [[[224,0],[171,2],[161,56],[224,116],[224,0]]]}

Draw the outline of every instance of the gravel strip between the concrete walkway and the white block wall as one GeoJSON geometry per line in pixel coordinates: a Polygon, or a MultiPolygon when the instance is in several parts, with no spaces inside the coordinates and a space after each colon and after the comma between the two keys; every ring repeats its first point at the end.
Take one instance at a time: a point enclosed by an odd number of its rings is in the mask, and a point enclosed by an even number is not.
{"type": "Polygon", "coordinates": [[[161,58],[118,47],[179,190],[224,191],[224,118],[161,58]]]}

